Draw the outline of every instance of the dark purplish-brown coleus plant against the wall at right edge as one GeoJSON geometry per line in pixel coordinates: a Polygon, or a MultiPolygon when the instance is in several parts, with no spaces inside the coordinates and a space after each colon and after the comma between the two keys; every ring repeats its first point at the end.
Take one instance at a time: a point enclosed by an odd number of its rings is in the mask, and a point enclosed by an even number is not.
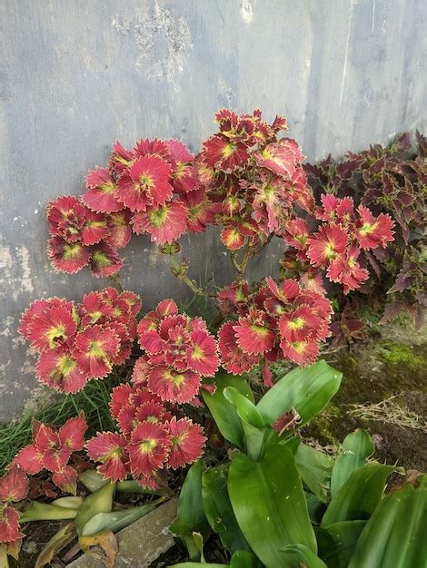
{"type": "Polygon", "coordinates": [[[358,207],[369,207],[374,215],[390,215],[395,221],[394,242],[386,250],[371,252],[362,247],[360,262],[372,278],[361,291],[382,299],[384,321],[406,311],[420,326],[427,293],[427,142],[420,132],[416,142],[414,153],[406,133],[389,147],[376,144],[367,151],[349,152],[342,161],[329,156],[303,167],[318,195],[326,192],[339,200],[352,197],[358,207]]]}

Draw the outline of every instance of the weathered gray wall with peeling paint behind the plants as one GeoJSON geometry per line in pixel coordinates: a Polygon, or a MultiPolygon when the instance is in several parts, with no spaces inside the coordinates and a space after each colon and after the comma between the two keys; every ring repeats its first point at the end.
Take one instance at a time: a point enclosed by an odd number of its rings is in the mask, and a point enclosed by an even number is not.
{"type": "MultiPolygon", "coordinates": [[[[115,139],[196,150],[223,106],[288,116],[311,160],[425,128],[426,11],[423,0],[2,0],[0,417],[36,384],[21,311],[104,285],[50,268],[46,201],[82,191],[115,139]]],[[[212,234],[193,243],[199,267],[207,258],[226,280],[212,234]]],[[[148,240],[125,254],[124,282],[145,307],[176,297],[148,240]]]]}

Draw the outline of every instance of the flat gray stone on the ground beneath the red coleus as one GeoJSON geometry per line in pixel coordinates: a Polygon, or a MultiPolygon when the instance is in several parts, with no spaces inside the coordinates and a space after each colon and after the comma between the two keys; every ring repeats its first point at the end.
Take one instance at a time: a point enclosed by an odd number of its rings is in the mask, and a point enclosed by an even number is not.
{"type": "MultiPolygon", "coordinates": [[[[176,517],[178,499],[171,499],[116,534],[119,551],[114,568],[148,568],[151,563],[174,546],[168,527],[176,517]]],[[[99,560],[83,554],[70,568],[104,568],[99,560]]]]}

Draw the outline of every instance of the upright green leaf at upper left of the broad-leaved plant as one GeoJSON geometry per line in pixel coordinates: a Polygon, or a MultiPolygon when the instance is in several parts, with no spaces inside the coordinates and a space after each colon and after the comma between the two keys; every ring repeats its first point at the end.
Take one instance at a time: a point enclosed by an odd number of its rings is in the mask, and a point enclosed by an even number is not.
{"type": "Polygon", "coordinates": [[[216,426],[223,437],[243,449],[243,426],[237,416],[237,411],[233,403],[223,397],[223,390],[226,387],[236,388],[243,397],[253,402],[253,392],[247,381],[243,377],[234,377],[224,371],[220,371],[215,376],[216,391],[214,395],[210,395],[202,390],[204,403],[209,408],[216,426]]]}

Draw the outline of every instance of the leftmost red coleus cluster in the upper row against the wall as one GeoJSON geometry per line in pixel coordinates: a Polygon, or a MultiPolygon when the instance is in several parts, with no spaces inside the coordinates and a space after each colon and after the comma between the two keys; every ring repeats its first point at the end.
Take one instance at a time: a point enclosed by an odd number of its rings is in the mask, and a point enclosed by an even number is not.
{"type": "Polygon", "coordinates": [[[73,274],[90,265],[94,276],[107,277],[121,268],[117,250],[131,238],[126,211],[92,211],[77,197],[64,195],[48,203],[47,220],[55,269],[73,274]]]}

